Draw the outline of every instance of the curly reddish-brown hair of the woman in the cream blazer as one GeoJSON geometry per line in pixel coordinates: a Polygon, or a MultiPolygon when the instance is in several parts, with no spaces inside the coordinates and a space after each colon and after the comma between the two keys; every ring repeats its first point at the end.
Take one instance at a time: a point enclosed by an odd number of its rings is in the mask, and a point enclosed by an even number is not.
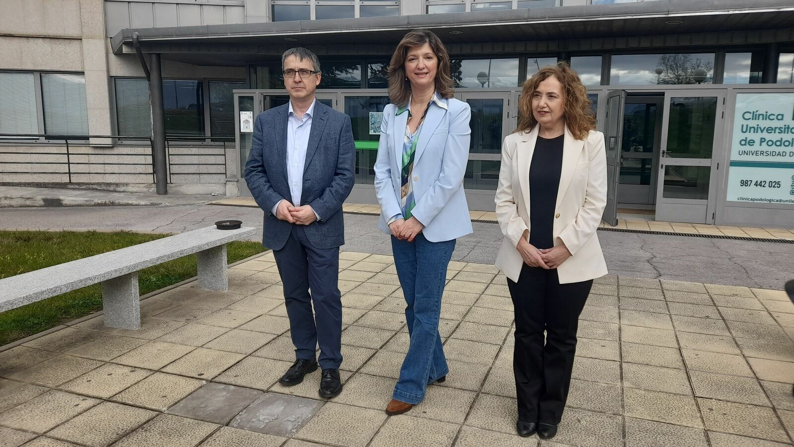
{"type": "Polygon", "coordinates": [[[565,110],[562,115],[565,126],[568,126],[573,138],[584,140],[590,130],[595,130],[595,115],[590,109],[592,102],[588,99],[587,88],[582,84],[579,75],[565,62],[543,67],[535,76],[524,82],[521,97],[518,98],[519,118],[518,128],[515,131],[529,132],[538,124],[532,113],[532,93],[538,88],[538,84],[552,76],[560,81],[565,94],[565,110]]]}

